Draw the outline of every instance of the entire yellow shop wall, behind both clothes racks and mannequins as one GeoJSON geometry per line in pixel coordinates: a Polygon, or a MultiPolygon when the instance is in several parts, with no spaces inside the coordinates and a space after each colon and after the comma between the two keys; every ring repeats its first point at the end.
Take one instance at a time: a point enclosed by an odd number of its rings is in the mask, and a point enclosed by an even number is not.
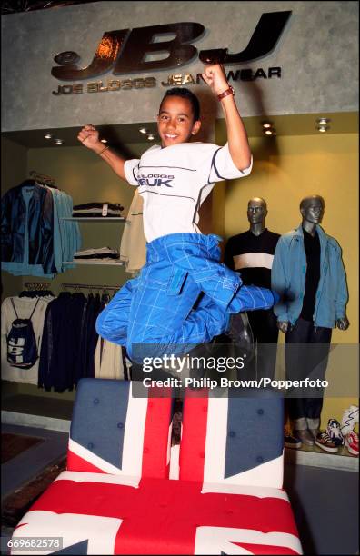
{"type": "MultiPolygon", "coordinates": [[[[215,128],[215,143],[224,144],[225,141],[224,123],[220,121],[215,128]]],[[[261,196],[268,204],[266,226],[277,233],[285,233],[300,223],[300,200],[307,194],[323,195],[326,203],[323,225],[326,233],[334,236],[342,246],[350,292],[347,315],[351,325],[346,332],[335,330],[333,342],[357,343],[357,134],[250,137],[250,144],[255,159],[252,174],[242,180],[215,185],[202,211],[201,229],[204,233],[218,233],[225,241],[235,233],[244,232],[248,229],[247,201],[261,196]]],[[[148,146],[148,143],[125,144],[123,153],[137,157],[148,146]]],[[[133,188],[118,178],[100,157],[81,145],[26,149],[2,138],[2,154],[5,163],[2,164],[3,194],[20,184],[31,170],[36,170],[55,178],[57,186],[73,197],[74,204],[121,203],[127,214],[133,188]]],[[[118,248],[123,226],[123,223],[82,223],[83,248],[107,245],[118,248]]],[[[2,274],[3,297],[18,294],[25,282],[39,281],[34,277],[2,274]]],[[[58,294],[63,290],[62,283],[121,286],[130,277],[122,267],[78,266],[58,274],[51,287],[58,294]]],[[[284,343],[283,334],[279,342],[284,343]]],[[[21,384],[16,388],[26,390],[26,386],[21,384]]],[[[354,402],[352,398],[325,399],[323,423],[331,416],[338,418],[345,407],[354,402]]]]}

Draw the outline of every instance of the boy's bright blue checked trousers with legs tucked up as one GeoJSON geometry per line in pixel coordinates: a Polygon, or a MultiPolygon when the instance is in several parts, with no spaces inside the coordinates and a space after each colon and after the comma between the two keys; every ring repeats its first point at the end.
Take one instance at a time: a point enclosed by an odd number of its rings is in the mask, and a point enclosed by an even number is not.
{"type": "Polygon", "coordinates": [[[273,306],[270,290],[242,286],[239,274],[219,263],[220,241],[172,233],[147,243],[145,266],[99,314],[97,332],[141,362],[136,344],[151,344],[153,357],[185,353],[224,333],[230,313],[273,306]]]}

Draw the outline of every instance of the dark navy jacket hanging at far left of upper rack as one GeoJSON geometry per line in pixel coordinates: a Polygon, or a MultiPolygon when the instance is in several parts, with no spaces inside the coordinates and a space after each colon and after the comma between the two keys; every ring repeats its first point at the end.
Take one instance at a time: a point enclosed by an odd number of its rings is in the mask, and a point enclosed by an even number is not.
{"type": "Polygon", "coordinates": [[[54,273],[53,221],[53,196],[45,187],[34,180],[26,180],[7,191],[1,200],[2,262],[15,263],[16,268],[23,263],[39,264],[44,273],[54,273]],[[23,187],[33,189],[27,209],[23,187]],[[27,249],[28,261],[25,261],[27,249]]]}

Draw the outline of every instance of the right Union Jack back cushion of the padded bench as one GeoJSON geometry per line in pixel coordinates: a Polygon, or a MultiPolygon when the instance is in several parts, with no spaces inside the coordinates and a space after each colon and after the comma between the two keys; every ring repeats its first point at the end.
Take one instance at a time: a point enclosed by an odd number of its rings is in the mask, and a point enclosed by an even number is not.
{"type": "Polygon", "coordinates": [[[282,488],[284,402],[273,392],[188,390],[179,478],[214,484],[282,488]]]}

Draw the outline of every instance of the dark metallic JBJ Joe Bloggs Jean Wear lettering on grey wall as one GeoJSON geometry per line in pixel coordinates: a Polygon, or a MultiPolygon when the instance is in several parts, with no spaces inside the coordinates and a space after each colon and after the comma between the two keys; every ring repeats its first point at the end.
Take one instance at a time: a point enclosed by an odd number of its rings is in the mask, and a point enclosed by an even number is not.
{"type": "MultiPolygon", "coordinates": [[[[83,79],[93,80],[95,77],[105,74],[110,70],[115,75],[153,72],[154,70],[164,71],[178,69],[182,65],[193,61],[196,55],[205,64],[220,63],[232,65],[252,62],[268,55],[274,50],[280,36],[283,34],[290,15],[291,11],[270,12],[261,15],[245,50],[237,54],[229,54],[227,48],[202,50],[198,53],[196,47],[189,43],[204,34],[205,27],[199,23],[183,22],[108,31],[103,35],[90,65],[79,68],[77,64],[80,61],[80,56],[73,51],[66,51],[55,56],[54,60],[57,66],[52,68],[51,74],[61,81],[78,81],[83,79]],[[175,35],[175,37],[168,41],[155,42],[155,37],[169,34],[175,35]],[[146,60],[148,55],[164,53],[168,55],[163,59],[146,60]]],[[[261,71],[264,72],[263,69],[261,71]]],[[[249,76],[249,72],[253,72],[253,70],[247,70],[247,72],[249,76]]],[[[265,72],[264,74],[262,75],[263,77],[271,77],[271,75],[266,75],[265,72]]],[[[197,77],[193,76],[193,78],[196,81],[197,77]]],[[[242,79],[241,76],[239,78],[242,79]]],[[[256,78],[255,73],[254,78],[256,78]]],[[[152,80],[154,78],[145,78],[143,80],[144,85],[140,85],[141,87],[155,86],[154,81],[146,81],[146,79],[152,80]]],[[[143,83],[140,81],[140,78],[135,80],[127,79],[125,81],[112,80],[106,85],[103,82],[100,83],[102,83],[103,87],[107,87],[106,90],[118,90],[111,87],[133,88],[134,81],[138,84],[143,83]],[[131,86],[130,82],[132,83],[131,86]],[[124,83],[126,84],[124,85],[124,83]],[[109,86],[110,89],[108,88],[109,86]]],[[[87,86],[89,85],[92,84],[87,86]]],[[[76,88],[75,94],[82,93],[84,90],[79,84],[71,86],[73,87],[73,92],[74,87],[76,88]]],[[[64,91],[64,87],[62,90],[64,91]]],[[[63,94],[65,93],[63,92],[63,94]]]]}

